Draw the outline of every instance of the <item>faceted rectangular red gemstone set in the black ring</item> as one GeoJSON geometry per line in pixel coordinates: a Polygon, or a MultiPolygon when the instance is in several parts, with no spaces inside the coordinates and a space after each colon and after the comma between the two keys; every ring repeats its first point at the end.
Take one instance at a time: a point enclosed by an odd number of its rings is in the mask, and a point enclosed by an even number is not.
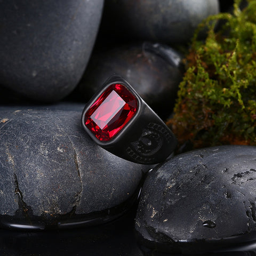
{"type": "Polygon", "coordinates": [[[135,115],[138,101],[122,84],[111,84],[85,113],[85,125],[100,141],[110,141],[135,115]]]}

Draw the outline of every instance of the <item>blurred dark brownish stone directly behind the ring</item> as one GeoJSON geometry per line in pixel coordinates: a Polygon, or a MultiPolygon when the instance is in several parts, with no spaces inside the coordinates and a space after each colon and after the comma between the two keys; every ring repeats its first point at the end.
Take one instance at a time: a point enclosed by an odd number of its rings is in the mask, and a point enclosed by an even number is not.
{"type": "Polygon", "coordinates": [[[182,55],[162,44],[141,43],[95,52],[79,84],[89,100],[114,73],[124,77],[162,118],[172,113],[182,80],[182,55]]]}

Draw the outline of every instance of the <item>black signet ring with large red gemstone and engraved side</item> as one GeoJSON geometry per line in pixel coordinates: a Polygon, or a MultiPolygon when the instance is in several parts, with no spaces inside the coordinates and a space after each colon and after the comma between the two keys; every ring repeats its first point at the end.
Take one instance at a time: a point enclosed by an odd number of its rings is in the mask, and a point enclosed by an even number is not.
{"type": "Polygon", "coordinates": [[[99,146],[131,162],[161,163],[177,146],[162,119],[117,75],[87,102],[81,121],[99,146]]]}

